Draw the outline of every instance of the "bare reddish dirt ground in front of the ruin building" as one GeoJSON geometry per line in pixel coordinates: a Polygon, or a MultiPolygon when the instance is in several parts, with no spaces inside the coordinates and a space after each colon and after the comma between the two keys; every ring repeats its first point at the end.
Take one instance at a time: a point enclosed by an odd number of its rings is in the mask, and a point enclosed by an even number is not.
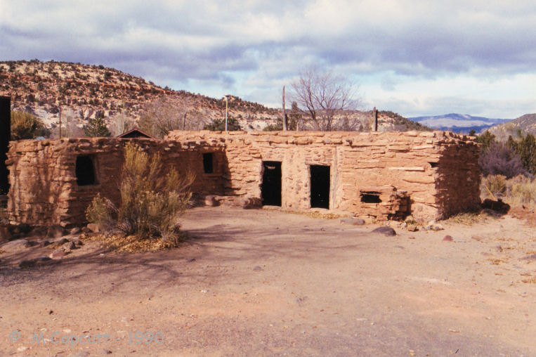
{"type": "Polygon", "coordinates": [[[0,356],[536,356],[535,228],[441,224],[202,207],[169,251],[4,252],[0,356]]]}

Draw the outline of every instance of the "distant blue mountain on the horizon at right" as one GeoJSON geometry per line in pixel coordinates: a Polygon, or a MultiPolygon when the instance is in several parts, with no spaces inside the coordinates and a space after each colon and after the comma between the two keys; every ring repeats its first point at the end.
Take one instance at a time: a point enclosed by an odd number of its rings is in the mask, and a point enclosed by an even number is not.
{"type": "Polygon", "coordinates": [[[433,117],[412,117],[407,119],[430,126],[433,129],[454,131],[455,133],[469,133],[472,129],[478,133],[485,131],[485,129],[488,129],[491,126],[511,121],[511,119],[490,119],[456,113],[436,115],[433,117]]]}

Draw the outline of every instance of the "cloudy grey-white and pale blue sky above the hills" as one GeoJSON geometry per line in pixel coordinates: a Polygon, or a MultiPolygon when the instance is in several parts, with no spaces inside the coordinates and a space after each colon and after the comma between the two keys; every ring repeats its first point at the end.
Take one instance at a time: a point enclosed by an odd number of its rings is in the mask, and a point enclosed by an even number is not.
{"type": "Polygon", "coordinates": [[[534,0],[0,0],[0,60],[103,64],[268,106],[309,65],[406,117],[536,112],[534,0]]]}

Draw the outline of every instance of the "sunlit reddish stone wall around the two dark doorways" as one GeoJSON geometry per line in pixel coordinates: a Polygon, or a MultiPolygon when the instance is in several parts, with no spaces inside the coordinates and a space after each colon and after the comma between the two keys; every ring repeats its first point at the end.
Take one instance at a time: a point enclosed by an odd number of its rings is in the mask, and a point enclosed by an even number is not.
{"type": "Polygon", "coordinates": [[[225,147],[225,195],[261,197],[263,161],[282,162],[282,207],[311,207],[310,165],[330,167],[329,208],[394,219],[440,219],[480,203],[478,144],[450,132],[172,131],[225,147]],[[362,202],[377,194],[381,203],[362,202]]]}

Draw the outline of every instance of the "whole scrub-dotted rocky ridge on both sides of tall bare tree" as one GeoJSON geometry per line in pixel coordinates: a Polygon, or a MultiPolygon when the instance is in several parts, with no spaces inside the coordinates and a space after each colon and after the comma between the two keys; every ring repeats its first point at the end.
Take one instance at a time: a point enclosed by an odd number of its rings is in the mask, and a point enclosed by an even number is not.
{"type": "MultiPolygon", "coordinates": [[[[182,106],[188,114],[186,129],[201,129],[214,119],[225,117],[225,98],[215,99],[188,91],[162,88],[145,79],[104,67],[81,63],[17,60],[0,62],[0,96],[10,96],[13,110],[40,117],[58,136],[62,121],[63,136],[79,136],[93,117],[103,117],[112,134],[122,132],[119,122],[137,125],[145,112],[166,106],[176,112],[182,106]],[[164,105],[162,105],[164,103],[164,105]],[[152,108],[151,108],[152,107],[152,108]]],[[[244,130],[262,130],[280,122],[280,108],[229,96],[229,115],[244,130]]],[[[181,115],[182,117],[182,115],[181,115]]],[[[353,110],[336,117],[347,130],[372,129],[372,111],[353,110]],[[342,123],[348,123],[342,124],[342,123]]],[[[380,131],[429,130],[393,112],[379,112],[380,131]]]]}

